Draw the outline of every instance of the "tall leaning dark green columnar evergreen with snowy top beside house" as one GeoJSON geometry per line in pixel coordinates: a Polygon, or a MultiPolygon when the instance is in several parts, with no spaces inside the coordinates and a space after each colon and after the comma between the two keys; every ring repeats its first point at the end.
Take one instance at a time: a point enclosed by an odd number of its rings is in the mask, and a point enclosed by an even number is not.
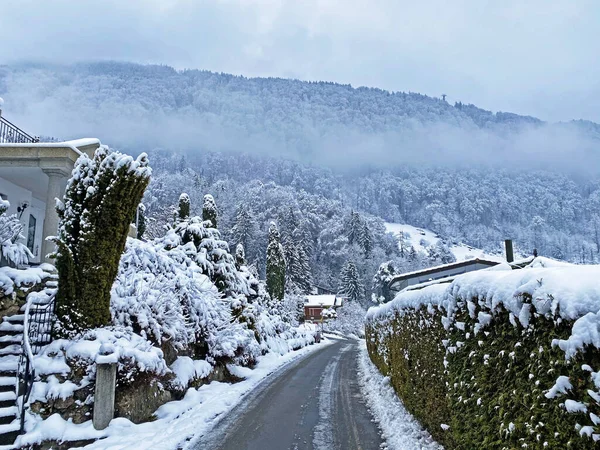
{"type": "Polygon", "coordinates": [[[150,181],[148,159],[101,147],[82,156],[69,181],[60,226],[56,268],[57,313],[67,330],[108,325],[110,290],[125,249],[131,217],[150,181]]]}

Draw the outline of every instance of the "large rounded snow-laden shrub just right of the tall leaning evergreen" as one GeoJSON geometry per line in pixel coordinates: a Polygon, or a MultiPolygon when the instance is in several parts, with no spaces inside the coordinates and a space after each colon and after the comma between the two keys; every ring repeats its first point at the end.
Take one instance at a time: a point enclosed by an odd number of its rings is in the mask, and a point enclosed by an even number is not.
{"type": "Polygon", "coordinates": [[[253,332],[233,320],[232,299],[221,297],[195,256],[175,231],[151,242],[129,239],[112,291],[113,322],[212,362],[254,358],[253,332]]]}

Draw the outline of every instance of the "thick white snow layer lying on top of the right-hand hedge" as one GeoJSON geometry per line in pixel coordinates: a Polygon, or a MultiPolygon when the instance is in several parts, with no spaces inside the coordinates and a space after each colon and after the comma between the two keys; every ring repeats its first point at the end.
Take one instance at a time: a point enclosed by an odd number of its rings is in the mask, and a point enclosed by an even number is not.
{"type": "MultiPolygon", "coordinates": [[[[531,314],[536,312],[575,321],[571,337],[554,342],[569,358],[584,345],[600,348],[598,280],[600,265],[579,266],[536,258],[524,269],[511,270],[510,266],[502,264],[460,275],[449,284],[400,292],[393,301],[369,309],[367,320],[385,321],[396,313],[425,306],[430,311],[432,308],[443,311],[446,316],[443,323],[449,327],[458,301],[467,302],[472,316],[475,314],[473,301],[491,311],[503,306],[525,327],[529,325],[531,314]],[[527,295],[531,296],[531,304],[524,302],[527,295]]],[[[478,319],[482,328],[489,323],[485,317],[483,321],[481,317],[478,319]]]]}

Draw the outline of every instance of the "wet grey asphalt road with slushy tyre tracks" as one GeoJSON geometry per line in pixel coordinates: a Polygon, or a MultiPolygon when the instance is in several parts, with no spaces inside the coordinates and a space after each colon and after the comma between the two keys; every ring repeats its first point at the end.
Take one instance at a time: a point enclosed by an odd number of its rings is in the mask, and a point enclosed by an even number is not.
{"type": "Polygon", "coordinates": [[[376,450],[356,380],[358,345],[339,340],[269,377],[195,450],[376,450]]]}

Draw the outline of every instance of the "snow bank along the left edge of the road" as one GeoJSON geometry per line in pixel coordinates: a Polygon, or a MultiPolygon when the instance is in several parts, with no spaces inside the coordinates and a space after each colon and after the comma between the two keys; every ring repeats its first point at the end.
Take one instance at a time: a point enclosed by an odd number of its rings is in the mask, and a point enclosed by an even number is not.
{"type": "Polygon", "coordinates": [[[285,355],[268,353],[259,358],[254,369],[230,367],[243,381],[235,384],[212,382],[198,389],[191,388],[179,401],[169,402],[156,411],[157,420],[136,425],[124,418],[113,419],[106,430],[98,431],[91,421],[74,425],[58,414],[38,424],[24,436],[20,444],[42,440],[76,441],[100,439],[84,447],[88,450],[144,450],[182,448],[193,435],[205,433],[221,417],[237,406],[261,381],[290,361],[302,358],[332,341],[324,339],[285,355]]]}

